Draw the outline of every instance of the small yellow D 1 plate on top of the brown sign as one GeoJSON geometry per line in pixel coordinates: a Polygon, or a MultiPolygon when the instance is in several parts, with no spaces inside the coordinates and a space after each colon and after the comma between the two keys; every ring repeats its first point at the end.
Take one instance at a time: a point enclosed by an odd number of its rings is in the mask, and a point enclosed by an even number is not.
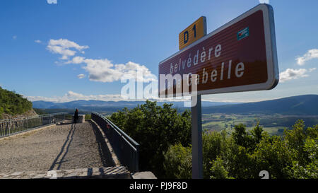
{"type": "Polygon", "coordinates": [[[181,50],[191,45],[196,40],[204,37],[204,35],[206,35],[206,17],[201,16],[201,18],[179,33],[179,49],[181,50]]]}

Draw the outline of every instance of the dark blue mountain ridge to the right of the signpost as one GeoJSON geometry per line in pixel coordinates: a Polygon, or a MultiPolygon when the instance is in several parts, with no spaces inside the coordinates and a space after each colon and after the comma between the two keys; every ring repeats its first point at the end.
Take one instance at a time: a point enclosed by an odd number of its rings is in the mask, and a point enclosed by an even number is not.
{"type": "Polygon", "coordinates": [[[202,113],[318,115],[318,95],[298,95],[256,103],[202,107],[202,113]]]}

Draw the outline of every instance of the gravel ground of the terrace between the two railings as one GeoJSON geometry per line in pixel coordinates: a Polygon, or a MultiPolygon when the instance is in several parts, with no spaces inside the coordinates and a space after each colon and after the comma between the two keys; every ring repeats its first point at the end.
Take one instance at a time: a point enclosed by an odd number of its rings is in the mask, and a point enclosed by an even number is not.
{"type": "Polygon", "coordinates": [[[62,124],[0,140],[0,172],[114,166],[92,122],[62,124]]]}

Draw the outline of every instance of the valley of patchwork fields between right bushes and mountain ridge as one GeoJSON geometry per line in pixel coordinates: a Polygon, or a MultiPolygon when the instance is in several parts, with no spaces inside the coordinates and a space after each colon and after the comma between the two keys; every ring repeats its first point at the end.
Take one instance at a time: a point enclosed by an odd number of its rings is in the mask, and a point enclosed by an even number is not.
{"type": "Polygon", "coordinates": [[[305,121],[305,127],[318,124],[318,116],[313,115],[261,115],[261,114],[203,114],[202,129],[206,131],[222,131],[229,134],[235,124],[245,124],[247,130],[252,129],[257,122],[270,135],[281,135],[284,129],[291,129],[298,119],[305,121]]]}

